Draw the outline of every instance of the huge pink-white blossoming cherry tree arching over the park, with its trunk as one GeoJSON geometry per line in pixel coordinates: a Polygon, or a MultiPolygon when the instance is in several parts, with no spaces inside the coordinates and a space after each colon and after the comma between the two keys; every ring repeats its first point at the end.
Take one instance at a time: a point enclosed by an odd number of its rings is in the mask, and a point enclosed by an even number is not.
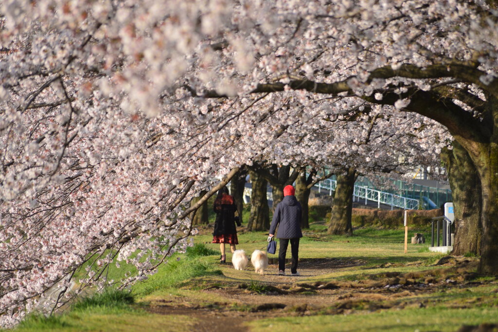
{"type": "Polygon", "coordinates": [[[447,131],[497,274],[497,31],[479,0],[3,1],[1,324],[87,261],[152,273],[241,165],[399,171],[447,131]]]}

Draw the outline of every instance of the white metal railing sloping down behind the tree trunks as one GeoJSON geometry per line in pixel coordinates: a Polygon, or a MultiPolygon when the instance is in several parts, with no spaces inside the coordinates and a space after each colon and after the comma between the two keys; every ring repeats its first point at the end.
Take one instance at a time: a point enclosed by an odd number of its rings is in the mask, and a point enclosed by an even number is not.
{"type": "MultiPolygon", "coordinates": [[[[329,192],[329,195],[332,195],[332,191],[336,189],[336,186],[337,181],[331,179],[325,179],[315,184],[315,187],[318,187],[318,192],[326,190],[329,192]]],[[[394,209],[394,207],[402,208],[404,210],[416,210],[418,209],[419,204],[417,199],[406,198],[388,192],[355,185],[353,201],[360,202],[361,200],[365,200],[365,205],[367,205],[368,201],[376,202],[378,208],[380,208],[380,204],[390,205],[391,210],[394,209]]]]}

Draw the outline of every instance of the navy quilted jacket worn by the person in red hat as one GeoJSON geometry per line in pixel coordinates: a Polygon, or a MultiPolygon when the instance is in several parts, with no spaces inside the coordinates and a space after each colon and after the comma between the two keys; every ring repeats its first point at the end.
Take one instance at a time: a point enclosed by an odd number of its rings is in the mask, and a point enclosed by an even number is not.
{"type": "Polygon", "coordinates": [[[285,196],[273,213],[269,234],[275,234],[275,229],[278,226],[277,239],[302,238],[301,216],[301,204],[296,197],[285,196]]]}

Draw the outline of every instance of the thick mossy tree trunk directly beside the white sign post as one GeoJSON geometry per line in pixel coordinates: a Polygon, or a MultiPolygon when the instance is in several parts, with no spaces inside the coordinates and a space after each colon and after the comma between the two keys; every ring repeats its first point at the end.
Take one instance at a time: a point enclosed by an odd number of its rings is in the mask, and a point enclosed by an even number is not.
{"type": "Polygon", "coordinates": [[[481,180],[465,149],[456,141],[442,153],[455,208],[455,243],[452,253],[481,253],[481,180]]]}

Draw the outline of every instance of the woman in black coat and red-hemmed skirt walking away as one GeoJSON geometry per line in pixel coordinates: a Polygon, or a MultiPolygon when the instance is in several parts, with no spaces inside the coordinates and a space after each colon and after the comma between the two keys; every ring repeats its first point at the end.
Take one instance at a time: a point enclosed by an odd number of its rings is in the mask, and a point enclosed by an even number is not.
{"type": "Polygon", "coordinates": [[[234,197],[228,194],[227,187],[223,187],[223,189],[218,191],[218,196],[216,197],[213,208],[216,212],[213,243],[220,244],[220,262],[225,263],[225,244],[230,244],[232,253],[236,250],[235,245],[239,244],[239,240],[237,239],[235,223],[240,226],[239,217],[235,216],[237,205],[235,204],[234,197]]]}

